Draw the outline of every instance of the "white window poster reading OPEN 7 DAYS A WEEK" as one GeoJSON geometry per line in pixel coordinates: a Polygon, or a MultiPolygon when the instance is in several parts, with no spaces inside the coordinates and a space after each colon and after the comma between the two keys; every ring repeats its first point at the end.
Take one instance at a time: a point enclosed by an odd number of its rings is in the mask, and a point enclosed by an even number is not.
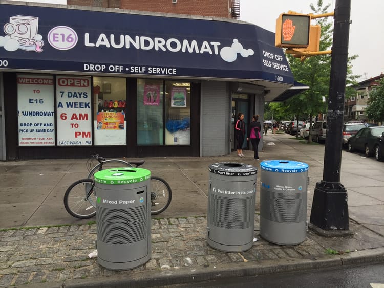
{"type": "Polygon", "coordinates": [[[92,145],[91,78],[56,77],[57,145],[92,145]]]}

